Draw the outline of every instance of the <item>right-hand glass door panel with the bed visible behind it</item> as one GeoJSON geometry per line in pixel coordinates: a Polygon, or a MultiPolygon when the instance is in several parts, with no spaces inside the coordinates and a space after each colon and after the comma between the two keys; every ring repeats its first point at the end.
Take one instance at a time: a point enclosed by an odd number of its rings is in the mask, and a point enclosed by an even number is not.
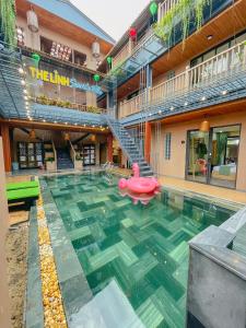
{"type": "Polygon", "coordinates": [[[213,128],[211,134],[210,184],[235,188],[241,126],[213,128]]]}

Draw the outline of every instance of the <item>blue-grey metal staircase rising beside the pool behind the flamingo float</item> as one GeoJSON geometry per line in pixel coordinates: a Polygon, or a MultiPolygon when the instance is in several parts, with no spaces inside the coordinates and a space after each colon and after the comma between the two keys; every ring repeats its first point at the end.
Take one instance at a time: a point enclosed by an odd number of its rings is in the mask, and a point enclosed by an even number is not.
{"type": "Polygon", "coordinates": [[[153,176],[153,172],[150,165],[145,162],[142,153],[136,145],[134,140],[130,137],[127,129],[116,119],[106,116],[107,124],[114,134],[118,140],[122,151],[128,156],[129,162],[138,163],[141,176],[153,176]]]}

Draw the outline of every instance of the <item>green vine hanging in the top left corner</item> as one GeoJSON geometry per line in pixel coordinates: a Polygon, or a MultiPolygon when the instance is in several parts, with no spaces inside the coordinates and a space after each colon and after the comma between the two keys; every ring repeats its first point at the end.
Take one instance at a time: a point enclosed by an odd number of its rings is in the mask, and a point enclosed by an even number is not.
{"type": "Polygon", "coordinates": [[[15,45],[15,0],[0,0],[0,24],[1,39],[15,45]]]}

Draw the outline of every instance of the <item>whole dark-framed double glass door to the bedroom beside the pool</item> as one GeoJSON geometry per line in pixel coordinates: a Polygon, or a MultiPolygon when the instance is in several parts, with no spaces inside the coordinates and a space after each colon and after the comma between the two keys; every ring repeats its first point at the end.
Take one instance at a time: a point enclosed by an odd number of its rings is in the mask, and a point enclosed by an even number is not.
{"type": "Polygon", "coordinates": [[[210,132],[189,131],[188,180],[235,188],[241,126],[214,127],[210,132]]]}

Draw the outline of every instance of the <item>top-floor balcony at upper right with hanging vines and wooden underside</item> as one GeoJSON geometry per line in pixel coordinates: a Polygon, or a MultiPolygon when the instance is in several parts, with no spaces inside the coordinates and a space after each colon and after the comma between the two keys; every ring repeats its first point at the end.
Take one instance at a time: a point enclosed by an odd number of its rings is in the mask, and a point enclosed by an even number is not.
{"type": "MultiPolygon", "coordinates": [[[[159,1],[159,13],[155,21],[151,20],[143,30],[140,28],[134,40],[129,37],[129,31],[124,35],[109,52],[112,66],[107,77],[101,82],[102,85],[108,90],[116,84],[121,86],[147,66],[157,67],[160,74],[164,73],[172,67],[181,63],[181,60],[189,60],[245,28],[243,16],[245,3],[242,0],[206,2],[201,8],[199,25],[196,9],[198,4],[192,5],[191,1],[187,1],[186,12],[189,11],[189,19],[185,25],[186,19],[179,13],[181,3],[181,1],[172,0],[159,1]],[[172,22],[168,23],[169,35],[166,32],[166,25],[168,25],[166,21],[168,20],[172,22]],[[187,30],[185,36],[184,28],[187,30]],[[211,34],[214,37],[208,43],[207,36],[211,34]],[[167,66],[169,67],[167,68],[167,66]],[[113,83],[113,80],[116,82],[113,83]]],[[[195,1],[195,3],[199,3],[199,1],[195,1]]],[[[149,8],[145,9],[145,11],[148,10],[149,8]]],[[[138,21],[141,21],[141,15],[138,21]]],[[[134,24],[137,23],[133,22],[132,26],[134,24]]]]}

